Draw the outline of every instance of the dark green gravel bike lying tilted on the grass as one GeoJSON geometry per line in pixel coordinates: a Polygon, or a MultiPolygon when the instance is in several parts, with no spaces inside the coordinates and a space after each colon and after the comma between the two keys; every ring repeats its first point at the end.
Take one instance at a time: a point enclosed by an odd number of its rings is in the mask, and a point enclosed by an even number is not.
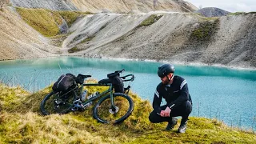
{"type": "Polygon", "coordinates": [[[120,77],[123,71],[117,70],[107,74],[108,78],[98,83],[85,83],[85,79],[90,78],[91,75],[78,74],[80,81],[75,82],[70,90],[52,91],[47,94],[41,102],[40,110],[44,115],[83,111],[100,98],[93,109],[94,118],[102,123],[123,122],[134,110],[134,102],[128,95],[130,86],[123,87],[123,82],[134,81],[134,74],[120,77]],[[107,86],[108,89],[101,93],[96,92],[93,97],[85,100],[83,98],[84,86],[107,86]]]}

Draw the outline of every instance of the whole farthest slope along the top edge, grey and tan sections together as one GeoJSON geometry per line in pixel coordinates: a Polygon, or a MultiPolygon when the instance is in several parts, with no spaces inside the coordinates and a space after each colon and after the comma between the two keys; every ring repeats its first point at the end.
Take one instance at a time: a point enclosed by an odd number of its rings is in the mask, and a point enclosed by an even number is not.
{"type": "Polygon", "coordinates": [[[191,12],[198,10],[190,2],[182,0],[10,0],[13,6],[26,8],[44,8],[50,10],[82,10],[98,13],[111,11],[128,13],[132,10],[149,12],[153,10],[168,10],[191,12]]]}

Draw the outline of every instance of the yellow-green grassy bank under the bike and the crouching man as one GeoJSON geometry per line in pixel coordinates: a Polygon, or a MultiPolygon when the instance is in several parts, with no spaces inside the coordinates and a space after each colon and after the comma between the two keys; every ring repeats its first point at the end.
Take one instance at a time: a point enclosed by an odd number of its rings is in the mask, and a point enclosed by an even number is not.
{"type": "MultiPolygon", "coordinates": [[[[89,91],[97,89],[90,87],[89,91]]],[[[122,124],[112,126],[96,122],[92,106],[84,112],[42,116],[38,110],[50,87],[30,94],[20,87],[0,84],[0,142],[2,143],[254,143],[256,135],[225,126],[207,118],[190,118],[186,134],[166,123],[152,124],[148,101],[136,94],[134,112],[122,124]]],[[[180,122],[180,120],[179,120],[180,122]]],[[[179,123],[178,123],[179,124],[179,123]]]]}

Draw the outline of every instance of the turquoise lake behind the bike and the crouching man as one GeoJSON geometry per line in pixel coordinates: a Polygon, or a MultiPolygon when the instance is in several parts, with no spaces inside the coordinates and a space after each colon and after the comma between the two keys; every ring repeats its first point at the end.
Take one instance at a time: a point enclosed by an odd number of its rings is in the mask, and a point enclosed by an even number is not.
{"type": "MultiPolygon", "coordinates": [[[[161,62],[139,62],[78,57],[37,58],[0,62],[0,80],[31,92],[56,81],[61,74],[91,74],[95,79],[125,69],[134,74],[131,90],[152,102],[160,79],[161,62]]],[[[256,130],[256,70],[234,70],[214,66],[174,65],[175,74],[188,83],[193,99],[191,116],[218,118],[229,126],[256,130]]],[[[162,102],[164,104],[164,102],[162,102]]]]}

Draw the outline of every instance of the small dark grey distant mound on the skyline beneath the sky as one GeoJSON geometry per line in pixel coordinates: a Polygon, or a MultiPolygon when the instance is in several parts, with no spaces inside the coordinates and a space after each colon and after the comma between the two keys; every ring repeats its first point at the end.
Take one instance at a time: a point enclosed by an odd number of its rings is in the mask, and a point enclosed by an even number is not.
{"type": "Polygon", "coordinates": [[[194,13],[202,14],[205,17],[221,17],[230,14],[230,12],[218,9],[217,7],[205,7],[201,10],[194,11],[194,13]]]}

